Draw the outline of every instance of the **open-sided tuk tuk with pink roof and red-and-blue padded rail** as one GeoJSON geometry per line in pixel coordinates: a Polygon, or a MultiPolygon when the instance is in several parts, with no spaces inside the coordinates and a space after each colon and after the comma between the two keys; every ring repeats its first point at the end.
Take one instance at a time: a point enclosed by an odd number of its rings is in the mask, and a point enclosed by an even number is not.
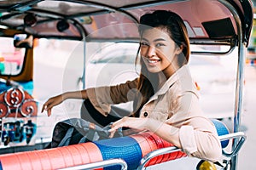
{"type": "MultiPolygon", "coordinates": [[[[18,56],[15,64],[11,64],[15,66],[5,64],[8,63],[9,58],[12,58],[9,54],[1,52],[0,56],[3,56],[3,62],[0,61],[0,64],[4,63],[0,65],[0,78],[5,86],[0,94],[0,118],[2,125],[5,126],[0,128],[2,142],[8,145],[11,138],[4,136],[7,136],[7,132],[15,130],[15,127],[6,130],[14,124],[6,122],[8,118],[18,120],[22,122],[21,124],[32,123],[34,131],[30,137],[32,138],[36,133],[38,111],[41,109],[38,109],[40,107],[38,100],[30,90],[33,88],[33,56],[34,49],[38,46],[38,39],[66,39],[80,42],[83,51],[76,54],[76,57],[83,67],[83,72],[79,81],[82,83],[82,88],[87,88],[86,51],[90,50],[89,44],[91,42],[139,42],[137,26],[140,16],[156,9],[171,10],[182,17],[189,31],[190,44],[201,47],[199,50],[198,48],[195,48],[195,51],[192,50],[191,54],[224,57],[236,51],[238,60],[232,132],[229,132],[223,122],[213,121],[219,132],[219,139],[225,147],[223,162],[218,166],[222,169],[236,169],[239,150],[246,140],[246,134],[241,132],[240,128],[245,55],[253,26],[251,0],[1,1],[0,38],[12,39],[12,48],[15,48],[11,52],[13,58],[17,53],[22,55],[18,56]]],[[[49,53],[45,51],[45,55],[49,53]]],[[[26,138],[22,133],[24,131],[18,136],[20,140],[23,137],[26,138]]],[[[111,141],[103,140],[101,144],[106,144],[105,147],[98,147],[88,142],[50,150],[43,150],[45,145],[43,138],[39,142],[41,148],[32,150],[34,149],[31,148],[32,145],[37,144],[27,145],[30,142],[29,139],[29,142],[27,143],[28,140],[26,140],[24,142],[26,144],[22,146],[25,148],[22,151],[25,152],[0,156],[0,169],[102,167],[144,169],[186,156],[181,149],[166,143],[154,134],[145,133],[132,138],[136,139],[136,143],[134,140],[131,141],[131,137],[125,137],[125,139],[117,138],[111,141]]],[[[17,147],[20,146],[11,146],[11,148],[17,147]]],[[[0,148],[0,153],[4,153],[1,152],[4,149],[6,148],[0,148]]],[[[9,150],[9,152],[12,151],[9,150]]],[[[198,169],[205,167],[216,169],[215,165],[208,161],[201,161],[198,165],[198,169]]]]}

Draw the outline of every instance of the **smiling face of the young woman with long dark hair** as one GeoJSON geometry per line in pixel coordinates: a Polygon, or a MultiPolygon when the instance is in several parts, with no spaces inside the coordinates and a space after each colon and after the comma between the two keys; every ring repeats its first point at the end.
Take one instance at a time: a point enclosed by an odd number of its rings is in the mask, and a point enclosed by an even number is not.
{"type": "Polygon", "coordinates": [[[167,71],[177,62],[177,54],[182,52],[168,33],[161,28],[143,31],[141,55],[148,71],[167,71]]]}

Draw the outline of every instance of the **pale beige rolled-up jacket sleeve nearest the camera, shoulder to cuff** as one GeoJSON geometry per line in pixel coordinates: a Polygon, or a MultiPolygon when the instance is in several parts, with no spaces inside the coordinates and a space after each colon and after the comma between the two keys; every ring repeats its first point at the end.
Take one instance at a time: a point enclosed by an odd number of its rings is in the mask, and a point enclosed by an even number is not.
{"type": "Polygon", "coordinates": [[[217,130],[203,115],[197,96],[193,92],[185,92],[177,97],[176,104],[173,116],[166,122],[177,127],[182,150],[188,156],[219,161],[222,148],[217,130]]]}

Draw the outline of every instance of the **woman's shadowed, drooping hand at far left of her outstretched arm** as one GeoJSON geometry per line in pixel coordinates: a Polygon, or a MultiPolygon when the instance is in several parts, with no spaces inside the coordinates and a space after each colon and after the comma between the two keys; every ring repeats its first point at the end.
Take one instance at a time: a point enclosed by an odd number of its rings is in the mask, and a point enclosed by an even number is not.
{"type": "Polygon", "coordinates": [[[57,95],[55,97],[49,98],[43,105],[42,111],[47,111],[48,116],[51,115],[51,109],[55,105],[60,105],[62,101],[64,101],[64,94],[57,95]]]}

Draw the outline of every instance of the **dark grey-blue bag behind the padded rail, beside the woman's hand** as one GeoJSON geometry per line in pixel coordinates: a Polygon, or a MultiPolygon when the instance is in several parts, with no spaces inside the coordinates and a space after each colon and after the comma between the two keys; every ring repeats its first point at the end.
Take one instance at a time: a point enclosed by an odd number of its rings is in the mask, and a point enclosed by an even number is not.
{"type": "MultiPolygon", "coordinates": [[[[109,139],[111,123],[106,127],[99,127],[94,123],[80,118],[71,118],[58,122],[53,131],[52,141],[47,148],[55,148],[70,144],[79,144],[100,139],[109,139]]],[[[122,137],[121,128],[114,134],[122,137]]]]}

